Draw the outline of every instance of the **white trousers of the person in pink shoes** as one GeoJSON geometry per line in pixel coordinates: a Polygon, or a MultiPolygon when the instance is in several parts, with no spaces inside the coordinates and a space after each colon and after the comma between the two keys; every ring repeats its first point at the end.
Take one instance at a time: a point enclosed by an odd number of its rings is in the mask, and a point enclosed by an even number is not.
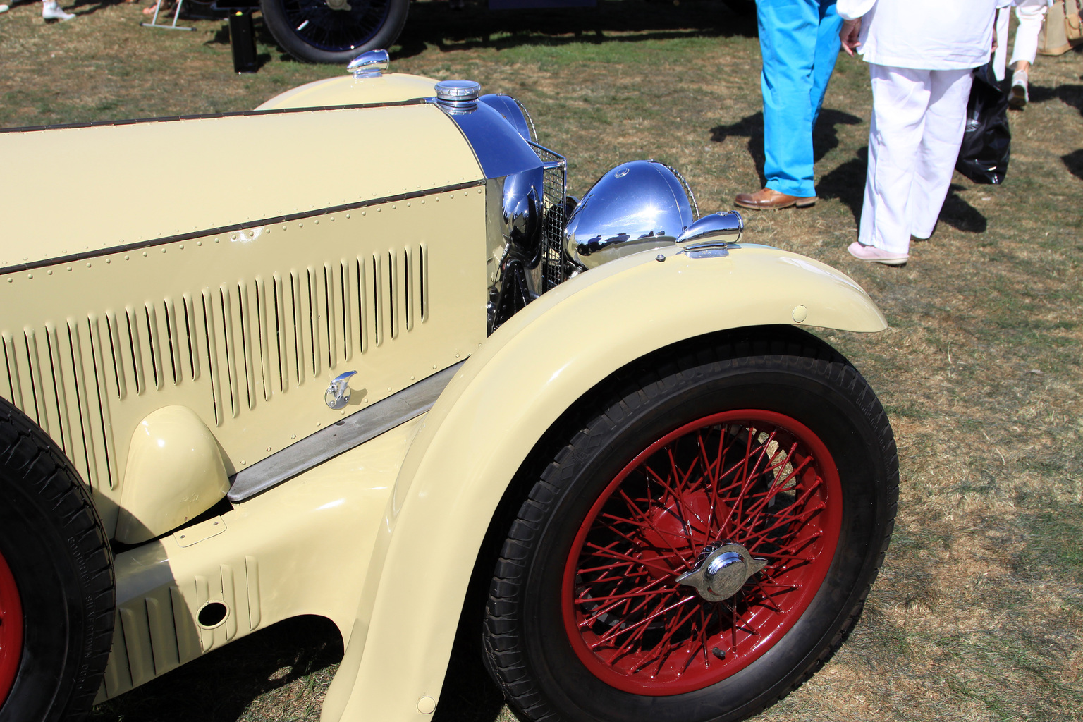
{"type": "Polygon", "coordinates": [[[928,238],[948,196],[970,97],[970,70],[869,64],[873,121],[858,240],[909,253],[928,238]]]}

